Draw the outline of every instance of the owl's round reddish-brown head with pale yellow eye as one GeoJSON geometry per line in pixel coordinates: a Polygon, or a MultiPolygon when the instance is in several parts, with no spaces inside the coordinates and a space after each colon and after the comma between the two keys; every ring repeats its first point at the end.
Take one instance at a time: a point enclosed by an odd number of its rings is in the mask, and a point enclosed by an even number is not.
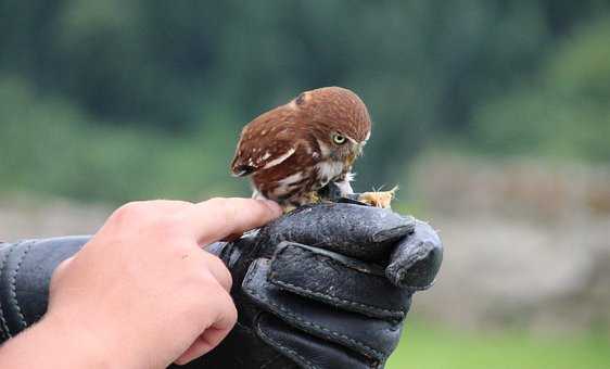
{"type": "Polygon", "coordinates": [[[353,91],[323,87],[305,91],[288,104],[315,135],[322,156],[352,164],[370,137],[367,106],[353,91]]]}

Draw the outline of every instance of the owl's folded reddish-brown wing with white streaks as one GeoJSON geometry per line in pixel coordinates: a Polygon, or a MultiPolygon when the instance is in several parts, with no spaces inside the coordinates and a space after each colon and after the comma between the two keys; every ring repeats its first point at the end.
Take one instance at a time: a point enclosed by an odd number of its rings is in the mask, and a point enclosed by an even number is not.
{"type": "Polygon", "coordinates": [[[244,177],[294,155],[298,139],[293,118],[289,112],[274,110],[245,126],[231,163],[232,175],[244,177]]]}

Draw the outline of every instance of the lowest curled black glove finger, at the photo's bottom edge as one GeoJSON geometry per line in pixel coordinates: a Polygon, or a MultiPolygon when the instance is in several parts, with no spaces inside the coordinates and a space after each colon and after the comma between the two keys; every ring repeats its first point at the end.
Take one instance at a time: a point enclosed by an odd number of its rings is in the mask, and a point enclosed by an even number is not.
{"type": "Polygon", "coordinates": [[[377,359],[312,336],[269,314],[262,314],[256,321],[256,334],[303,368],[370,369],[380,365],[377,359]]]}

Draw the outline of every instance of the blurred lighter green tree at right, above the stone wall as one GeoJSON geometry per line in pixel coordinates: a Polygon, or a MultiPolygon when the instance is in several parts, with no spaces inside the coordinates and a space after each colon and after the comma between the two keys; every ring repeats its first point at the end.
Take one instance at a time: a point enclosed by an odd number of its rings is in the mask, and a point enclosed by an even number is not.
{"type": "Polygon", "coordinates": [[[473,141],[495,154],[610,163],[610,17],[572,34],[523,79],[473,113],[473,141]]]}

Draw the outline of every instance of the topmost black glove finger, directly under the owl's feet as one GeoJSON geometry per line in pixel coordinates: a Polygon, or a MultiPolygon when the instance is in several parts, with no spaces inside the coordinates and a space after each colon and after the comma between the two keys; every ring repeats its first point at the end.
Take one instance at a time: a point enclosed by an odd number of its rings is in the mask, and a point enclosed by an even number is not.
{"type": "Polygon", "coordinates": [[[361,260],[387,259],[394,243],[412,232],[415,219],[389,209],[354,204],[300,207],[264,227],[260,241],[297,242],[361,260]]]}

